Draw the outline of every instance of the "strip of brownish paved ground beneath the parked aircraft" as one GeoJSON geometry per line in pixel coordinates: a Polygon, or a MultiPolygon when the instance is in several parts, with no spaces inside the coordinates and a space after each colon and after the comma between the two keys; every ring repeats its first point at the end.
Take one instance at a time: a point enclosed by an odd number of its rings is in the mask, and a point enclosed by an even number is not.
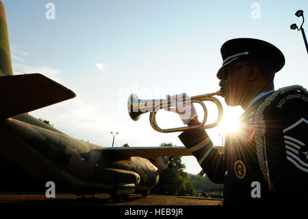
{"type": "Polygon", "coordinates": [[[220,200],[151,195],[147,197],[131,195],[127,200],[114,203],[107,194],[91,197],[56,194],[55,198],[46,198],[44,194],[0,194],[0,205],[219,205],[221,203],[220,200]]]}

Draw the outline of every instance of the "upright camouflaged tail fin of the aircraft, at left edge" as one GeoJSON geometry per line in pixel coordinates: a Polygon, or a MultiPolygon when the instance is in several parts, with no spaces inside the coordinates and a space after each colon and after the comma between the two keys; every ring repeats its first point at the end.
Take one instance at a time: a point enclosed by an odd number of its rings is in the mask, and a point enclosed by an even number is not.
{"type": "Polygon", "coordinates": [[[12,59],[5,7],[0,1],[0,76],[12,76],[12,59]]]}

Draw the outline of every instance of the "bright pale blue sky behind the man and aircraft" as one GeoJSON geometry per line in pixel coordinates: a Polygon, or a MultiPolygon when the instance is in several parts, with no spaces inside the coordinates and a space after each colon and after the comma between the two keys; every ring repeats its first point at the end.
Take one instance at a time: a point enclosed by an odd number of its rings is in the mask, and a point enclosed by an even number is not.
{"type": "MultiPolygon", "coordinates": [[[[30,114],[48,119],[76,139],[100,146],[112,145],[110,132],[119,132],[115,146],[159,146],[163,142],[182,146],[179,133],[153,130],[149,113],[133,122],[127,113],[127,98],[131,93],[141,99],[160,99],[167,94],[192,96],[218,91],[220,47],[231,38],[259,38],[283,51],[286,63],[275,77],[276,89],[292,84],[308,87],[303,37],[290,30],[292,23],[302,23],[294,14],[301,9],[305,16],[307,0],[3,3],[14,73],[42,73],[77,94],[73,100],[30,114]]],[[[222,124],[235,124],[242,109],[227,107],[220,100],[224,106],[222,124]]],[[[214,106],[208,106],[213,122],[214,106]]],[[[202,120],[202,113],[198,114],[202,120]]],[[[178,115],[166,116],[166,112],[157,113],[157,123],[183,126],[178,115]]],[[[220,125],[208,133],[214,144],[221,145],[220,135],[225,131],[220,125]]],[[[201,170],[194,157],[182,160],[187,172],[201,170]]]]}

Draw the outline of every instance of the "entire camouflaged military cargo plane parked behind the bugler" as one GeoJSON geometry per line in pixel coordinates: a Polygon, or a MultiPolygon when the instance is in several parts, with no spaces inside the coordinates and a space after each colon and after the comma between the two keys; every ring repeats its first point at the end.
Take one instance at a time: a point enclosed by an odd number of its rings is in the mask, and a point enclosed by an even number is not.
{"type": "Polygon", "coordinates": [[[5,7],[0,1],[0,154],[40,181],[77,195],[146,192],[185,147],[106,148],[74,139],[27,114],[75,97],[40,73],[13,75],[5,7]]]}

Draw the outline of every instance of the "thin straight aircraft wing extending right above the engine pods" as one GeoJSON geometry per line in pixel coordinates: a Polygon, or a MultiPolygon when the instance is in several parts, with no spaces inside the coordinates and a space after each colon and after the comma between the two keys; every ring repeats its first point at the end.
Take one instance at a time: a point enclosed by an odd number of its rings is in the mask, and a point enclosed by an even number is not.
{"type": "Polygon", "coordinates": [[[121,157],[144,157],[146,159],[156,157],[181,157],[191,156],[185,147],[127,147],[127,148],[101,148],[104,153],[121,157]]]}

